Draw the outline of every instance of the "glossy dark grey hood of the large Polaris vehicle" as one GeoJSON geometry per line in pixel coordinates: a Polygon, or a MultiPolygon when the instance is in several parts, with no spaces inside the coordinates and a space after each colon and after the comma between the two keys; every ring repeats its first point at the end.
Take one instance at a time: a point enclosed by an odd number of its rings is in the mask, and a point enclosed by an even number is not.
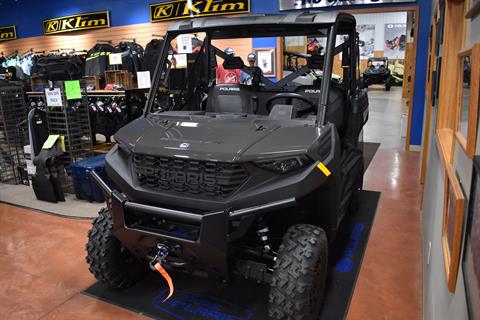
{"type": "Polygon", "coordinates": [[[115,140],[139,154],[234,162],[305,154],[319,135],[313,121],[150,116],[120,129],[115,140]]]}

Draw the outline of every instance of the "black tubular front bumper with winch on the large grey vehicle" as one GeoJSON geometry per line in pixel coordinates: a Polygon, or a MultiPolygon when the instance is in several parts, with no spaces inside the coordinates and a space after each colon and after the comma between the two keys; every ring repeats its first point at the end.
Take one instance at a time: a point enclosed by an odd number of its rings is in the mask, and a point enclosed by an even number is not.
{"type": "Polygon", "coordinates": [[[238,210],[226,209],[198,214],[132,202],[125,194],[112,190],[94,171],[91,176],[107,197],[115,236],[130,252],[145,258],[151,255],[149,250],[158,243],[180,246],[183,259],[195,260],[210,277],[220,281],[229,281],[231,277],[228,268],[228,243],[242,238],[258,215],[296,205],[295,198],[286,198],[238,210]],[[132,213],[146,214],[162,221],[198,228],[198,236],[192,239],[132,224],[127,218],[132,213]],[[232,221],[239,223],[234,231],[229,228],[232,221]]]}

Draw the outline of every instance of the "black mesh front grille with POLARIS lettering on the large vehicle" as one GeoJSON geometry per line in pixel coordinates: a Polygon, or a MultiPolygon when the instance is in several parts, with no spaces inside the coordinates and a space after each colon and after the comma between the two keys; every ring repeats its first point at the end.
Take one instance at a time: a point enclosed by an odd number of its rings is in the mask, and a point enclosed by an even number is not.
{"type": "Polygon", "coordinates": [[[140,186],[203,197],[228,197],[248,178],[240,164],[162,158],[143,154],[133,157],[140,186]]]}

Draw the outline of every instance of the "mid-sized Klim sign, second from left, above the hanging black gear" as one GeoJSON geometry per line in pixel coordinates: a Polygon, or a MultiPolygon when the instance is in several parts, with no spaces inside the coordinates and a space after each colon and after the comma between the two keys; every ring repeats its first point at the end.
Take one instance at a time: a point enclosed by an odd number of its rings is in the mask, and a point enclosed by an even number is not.
{"type": "Polygon", "coordinates": [[[43,34],[56,34],[110,27],[108,11],[76,14],[43,21],[43,34]]]}

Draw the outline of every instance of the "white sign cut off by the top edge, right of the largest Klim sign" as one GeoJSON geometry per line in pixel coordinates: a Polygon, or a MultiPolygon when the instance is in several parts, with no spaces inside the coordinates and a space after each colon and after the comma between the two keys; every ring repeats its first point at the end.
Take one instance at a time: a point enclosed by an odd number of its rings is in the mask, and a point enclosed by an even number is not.
{"type": "Polygon", "coordinates": [[[278,0],[280,10],[375,5],[381,3],[415,2],[416,0],[278,0]]]}

